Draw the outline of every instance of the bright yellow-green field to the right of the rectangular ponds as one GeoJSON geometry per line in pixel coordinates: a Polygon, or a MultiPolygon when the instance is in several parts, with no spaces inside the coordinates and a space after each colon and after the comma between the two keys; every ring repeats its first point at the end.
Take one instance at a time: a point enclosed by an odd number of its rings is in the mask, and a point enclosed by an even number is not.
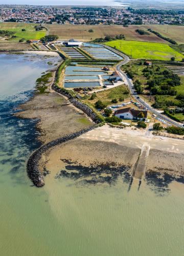
{"type": "Polygon", "coordinates": [[[116,47],[135,59],[170,60],[171,57],[175,57],[176,60],[181,60],[184,58],[169,45],[156,42],[115,40],[106,42],[105,45],[116,47]]]}

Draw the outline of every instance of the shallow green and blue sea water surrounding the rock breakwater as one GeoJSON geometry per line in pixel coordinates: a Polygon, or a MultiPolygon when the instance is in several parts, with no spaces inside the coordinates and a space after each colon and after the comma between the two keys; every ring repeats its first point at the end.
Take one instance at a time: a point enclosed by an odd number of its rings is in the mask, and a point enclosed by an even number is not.
{"type": "Polygon", "coordinates": [[[45,177],[36,188],[26,161],[39,146],[35,121],[11,116],[48,69],[44,59],[0,55],[0,255],[183,255],[183,184],[120,176],[112,184],[45,177]],[[14,67],[14,69],[12,69],[14,67]],[[25,72],[26,71],[26,72],[25,72]]]}

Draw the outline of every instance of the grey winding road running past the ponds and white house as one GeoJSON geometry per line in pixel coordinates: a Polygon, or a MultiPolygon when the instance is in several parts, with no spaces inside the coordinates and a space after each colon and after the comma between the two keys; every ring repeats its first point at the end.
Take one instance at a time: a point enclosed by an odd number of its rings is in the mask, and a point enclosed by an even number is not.
{"type": "Polygon", "coordinates": [[[122,56],[124,58],[123,61],[119,62],[118,65],[116,66],[116,70],[118,71],[119,75],[123,78],[123,80],[127,81],[129,90],[130,90],[130,94],[136,99],[137,102],[139,102],[140,104],[142,104],[143,106],[145,106],[145,108],[147,110],[149,110],[150,112],[152,112],[153,114],[157,115],[160,119],[163,119],[169,123],[172,123],[173,125],[177,126],[177,127],[182,127],[182,123],[176,122],[174,120],[172,120],[171,118],[160,114],[156,109],[153,109],[152,106],[150,106],[147,102],[145,102],[142,98],[137,98],[140,97],[136,92],[134,92],[134,85],[132,83],[132,80],[125,74],[123,73],[123,71],[121,70],[121,67],[123,65],[125,65],[126,63],[128,63],[130,61],[130,58],[125,55],[124,53],[119,52],[116,49],[113,49],[109,46],[105,46],[105,48],[113,51],[114,53],[117,53],[118,55],[122,56]]]}

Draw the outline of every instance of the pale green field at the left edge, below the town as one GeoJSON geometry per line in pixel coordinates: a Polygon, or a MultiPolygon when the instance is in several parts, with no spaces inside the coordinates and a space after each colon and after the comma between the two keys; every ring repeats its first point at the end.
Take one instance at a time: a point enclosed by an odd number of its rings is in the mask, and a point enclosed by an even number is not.
{"type": "Polygon", "coordinates": [[[0,30],[8,30],[15,32],[16,38],[10,39],[11,41],[19,41],[21,38],[28,39],[40,39],[45,36],[46,31],[35,31],[35,24],[26,24],[26,23],[0,23],[0,30]],[[26,29],[26,31],[21,31],[26,29]]]}

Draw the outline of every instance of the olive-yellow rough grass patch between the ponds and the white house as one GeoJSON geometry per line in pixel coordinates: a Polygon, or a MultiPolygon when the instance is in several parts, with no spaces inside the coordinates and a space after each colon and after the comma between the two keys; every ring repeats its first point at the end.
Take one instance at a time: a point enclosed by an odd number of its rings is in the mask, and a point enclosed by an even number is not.
{"type": "MultiPolygon", "coordinates": [[[[97,97],[93,100],[90,100],[90,96],[84,97],[84,102],[90,103],[91,105],[95,106],[95,102],[101,100],[105,102],[107,105],[113,104],[111,103],[112,99],[117,99],[119,101],[120,98],[128,98],[129,94],[127,88],[125,86],[118,86],[112,89],[104,90],[101,92],[96,93],[97,97]]],[[[119,101],[120,102],[120,101],[119,101]]]]}

